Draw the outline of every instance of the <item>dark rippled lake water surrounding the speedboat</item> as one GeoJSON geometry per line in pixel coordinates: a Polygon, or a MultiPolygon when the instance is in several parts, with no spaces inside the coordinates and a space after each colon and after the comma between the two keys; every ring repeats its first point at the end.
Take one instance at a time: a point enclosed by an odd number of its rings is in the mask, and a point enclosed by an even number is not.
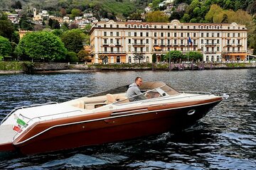
{"type": "Polygon", "coordinates": [[[256,69],[0,75],[0,120],[13,108],[68,101],[144,81],[179,91],[227,93],[193,128],[138,140],[0,158],[0,169],[256,169],[256,69]]]}

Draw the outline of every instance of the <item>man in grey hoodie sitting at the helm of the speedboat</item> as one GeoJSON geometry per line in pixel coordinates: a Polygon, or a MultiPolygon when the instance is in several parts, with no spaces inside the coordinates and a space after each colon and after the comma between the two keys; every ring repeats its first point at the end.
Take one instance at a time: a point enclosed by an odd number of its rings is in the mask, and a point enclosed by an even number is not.
{"type": "Polygon", "coordinates": [[[135,82],[130,84],[129,89],[127,90],[126,96],[129,98],[129,101],[140,101],[146,99],[146,97],[139,90],[139,86],[142,86],[142,78],[136,77],[135,82]]]}

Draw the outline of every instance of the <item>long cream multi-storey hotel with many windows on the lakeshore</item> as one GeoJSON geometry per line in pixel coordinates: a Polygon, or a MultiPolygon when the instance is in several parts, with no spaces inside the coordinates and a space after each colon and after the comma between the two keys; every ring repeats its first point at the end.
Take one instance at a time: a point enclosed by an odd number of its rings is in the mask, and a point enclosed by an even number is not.
{"type": "Polygon", "coordinates": [[[204,62],[245,61],[247,28],[237,23],[147,23],[139,21],[98,22],[90,30],[92,62],[134,63],[135,54],[143,62],[161,61],[171,50],[183,54],[198,51],[204,62]],[[191,38],[193,43],[188,42],[191,38]]]}

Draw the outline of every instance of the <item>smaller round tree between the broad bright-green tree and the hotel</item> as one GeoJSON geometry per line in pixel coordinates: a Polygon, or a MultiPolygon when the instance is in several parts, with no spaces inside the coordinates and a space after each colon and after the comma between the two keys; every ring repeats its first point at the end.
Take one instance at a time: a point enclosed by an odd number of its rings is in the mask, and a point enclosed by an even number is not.
{"type": "Polygon", "coordinates": [[[80,29],[67,30],[61,36],[61,40],[68,51],[78,53],[83,48],[82,43],[85,40],[85,33],[82,33],[80,29]]]}

